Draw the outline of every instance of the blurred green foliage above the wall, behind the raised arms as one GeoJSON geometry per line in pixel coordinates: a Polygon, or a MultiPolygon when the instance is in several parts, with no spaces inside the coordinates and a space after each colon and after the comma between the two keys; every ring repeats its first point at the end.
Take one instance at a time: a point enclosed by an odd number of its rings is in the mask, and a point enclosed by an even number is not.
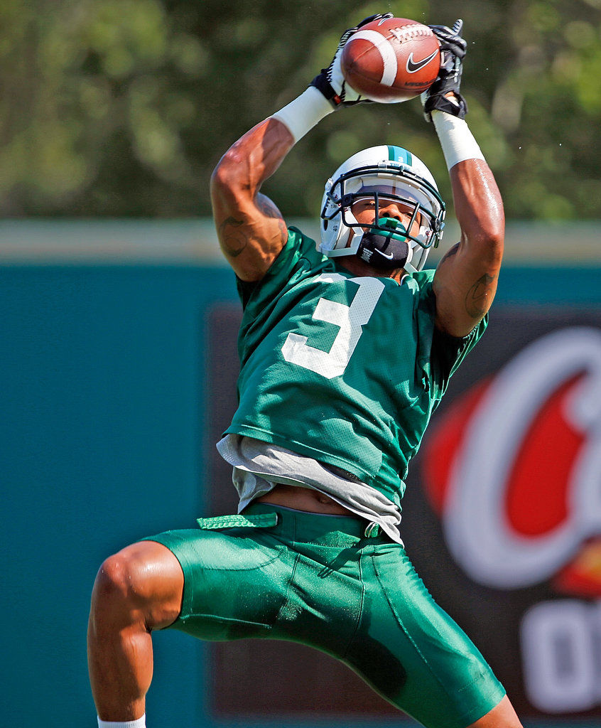
{"type": "MultiPolygon", "coordinates": [[[[391,11],[464,20],[469,121],[510,218],[601,218],[601,0],[2,0],[0,213],[210,214],[212,167],[298,95],[338,36],[391,11]]],[[[317,215],[364,146],[418,154],[450,197],[418,100],[331,115],[264,191],[317,215]]]]}

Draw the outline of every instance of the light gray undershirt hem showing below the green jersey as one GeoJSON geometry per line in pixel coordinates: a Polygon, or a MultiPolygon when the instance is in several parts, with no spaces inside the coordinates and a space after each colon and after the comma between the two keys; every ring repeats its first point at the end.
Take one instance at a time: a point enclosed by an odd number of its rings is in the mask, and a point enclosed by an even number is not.
{"type": "Polygon", "coordinates": [[[217,443],[217,449],[234,467],[231,479],[240,497],[238,513],[279,483],[311,488],[369,523],[377,523],[393,541],[402,544],[400,510],[366,483],[344,478],[312,458],[242,435],[226,435],[217,443]]]}

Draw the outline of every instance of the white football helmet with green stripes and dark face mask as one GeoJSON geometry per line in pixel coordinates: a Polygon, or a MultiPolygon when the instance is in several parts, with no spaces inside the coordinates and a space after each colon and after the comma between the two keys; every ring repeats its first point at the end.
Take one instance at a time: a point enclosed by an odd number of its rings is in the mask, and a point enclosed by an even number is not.
{"type": "MultiPolygon", "coordinates": [[[[406,208],[407,209],[407,208],[406,208]]],[[[407,272],[423,269],[430,248],[436,248],[445,226],[445,203],[428,167],[399,146],[374,146],[347,159],[325,186],[322,200],[322,242],[319,250],[328,257],[354,256],[374,266],[407,272]],[[358,199],[379,198],[409,206],[410,234],[393,218],[379,218],[369,226],[359,225],[351,212],[358,199]]]]}

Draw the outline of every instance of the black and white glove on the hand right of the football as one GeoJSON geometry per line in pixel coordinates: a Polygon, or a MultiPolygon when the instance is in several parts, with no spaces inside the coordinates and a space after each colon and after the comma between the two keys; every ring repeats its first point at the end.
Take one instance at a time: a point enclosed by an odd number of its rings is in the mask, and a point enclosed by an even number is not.
{"type": "Polygon", "coordinates": [[[467,43],[461,37],[463,20],[455,20],[453,28],[448,25],[430,25],[434,35],[440,41],[441,63],[438,78],[421,95],[423,113],[426,121],[431,122],[431,112],[445,111],[463,119],[467,114],[467,103],[459,92],[463,58],[466,55],[467,43]]]}

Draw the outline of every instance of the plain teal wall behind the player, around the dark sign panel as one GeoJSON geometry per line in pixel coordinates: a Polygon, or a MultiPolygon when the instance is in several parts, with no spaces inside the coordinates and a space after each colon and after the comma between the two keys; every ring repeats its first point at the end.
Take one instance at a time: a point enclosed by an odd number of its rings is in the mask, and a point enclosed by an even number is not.
{"type": "MultiPolygon", "coordinates": [[[[598,308],[600,280],[598,268],[510,268],[495,306],[598,308]]],[[[218,266],[0,268],[2,725],[95,726],[95,571],[202,513],[205,323],[235,301],[218,266]]],[[[213,724],[203,655],[179,633],[156,636],[149,727],[213,724]]]]}

